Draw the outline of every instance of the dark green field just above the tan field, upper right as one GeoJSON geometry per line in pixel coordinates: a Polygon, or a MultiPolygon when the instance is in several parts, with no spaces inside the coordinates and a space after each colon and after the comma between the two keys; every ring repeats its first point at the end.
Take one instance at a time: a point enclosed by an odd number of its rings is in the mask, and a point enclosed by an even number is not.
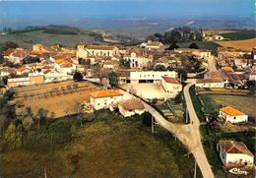
{"type": "Polygon", "coordinates": [[[242,40],[242,39],[251,39],[256,37],[256,30],[240,30],[237,32],[229,32],[222,34],[224,38],[230,40],[242,40]]]}

